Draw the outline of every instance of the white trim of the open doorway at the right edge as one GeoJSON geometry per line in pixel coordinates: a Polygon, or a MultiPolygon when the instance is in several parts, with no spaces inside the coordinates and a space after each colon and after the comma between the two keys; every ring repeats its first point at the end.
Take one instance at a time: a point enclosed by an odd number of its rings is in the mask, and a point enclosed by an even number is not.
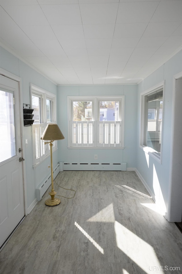
{"type": "MultiPolygon", "coordinates": [[[[173,182],[173,156],[174,156],[174,142],[175,142],[175,103],[176,103],[176,81],[182,79],[182,71],[173,76],[173,94],[172,94],[172,116],[171,116],[171,145],[170,145],[170,165],[169,165],[169,193],[168,193],[168,209],[166,218],[169,222],[181,222],[182,204],[179,199],[173,196],[177,191],[177,184],[173,182]],[[179,209],[181,207],[181,209],[179,209]],[[178,210],[179,209],[179,210],[178,210]]],[[[181,186],[182,187],[182,186],[181,186]]],[[[180,187],[178,189],[180,191],[180,187]]],[[[178,192],[179,193],[179,192],[178,192]]]]}

